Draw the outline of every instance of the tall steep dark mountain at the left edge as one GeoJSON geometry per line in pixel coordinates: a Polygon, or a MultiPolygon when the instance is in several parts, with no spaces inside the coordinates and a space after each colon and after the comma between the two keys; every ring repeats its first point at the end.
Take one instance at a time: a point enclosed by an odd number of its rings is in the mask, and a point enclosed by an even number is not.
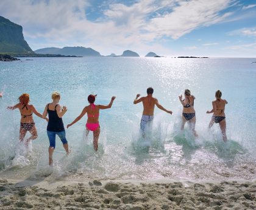
{"type": "Polygon", "coordinates": [[[22,26],[0,16],[0,54],[34,54],[24,40],[22,26]]]}

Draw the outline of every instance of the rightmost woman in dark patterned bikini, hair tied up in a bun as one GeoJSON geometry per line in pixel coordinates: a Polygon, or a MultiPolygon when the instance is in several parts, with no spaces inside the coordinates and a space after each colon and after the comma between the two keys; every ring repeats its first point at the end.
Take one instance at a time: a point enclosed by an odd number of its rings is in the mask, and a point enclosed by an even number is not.
{"type": "Polygon", "coordinates": [[[215,93],[216,100],[212,102],[213,109],[212,111],[207,111],[207,114],[213,113],[212,120],[210,121],[210,124],[208,128],[211,128],[214,123],[218,123],[219,127],[221,128],[222,138],[223,141],[227,141],[227,135],[226,135],[226,116],[225,116],[225,105],[227,104],[227,100],[221,99],[221,91],[218,90],[215,93]]]}

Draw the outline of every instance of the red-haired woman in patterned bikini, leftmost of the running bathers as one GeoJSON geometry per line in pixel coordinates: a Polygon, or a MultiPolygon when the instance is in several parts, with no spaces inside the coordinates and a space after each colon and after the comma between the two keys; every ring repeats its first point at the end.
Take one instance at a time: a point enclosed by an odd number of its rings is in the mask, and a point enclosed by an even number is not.
{"type": "Polygon", "coordinates": [[[21,126],[20,126],[20,141],[24,140],[24,137],[26,136],[27,131],[31,133],[32,136],[26,140],[26,145],[29,143],[29,141],[34,140],[37,138],[37,128],[35,128],[35,122],[33,119],[32,114],[35,113],[38,117],[41,117],[43,119],[46,119],[48,121],[47,117],[43,117],[38,111],[35,109],[33,105],[29,104],[29,94],[24,93],[18,98],[19,103],[17,103],[13,107],[7,107],[9,110],[15,110],[18,108],[21,113],[21,126]]]}

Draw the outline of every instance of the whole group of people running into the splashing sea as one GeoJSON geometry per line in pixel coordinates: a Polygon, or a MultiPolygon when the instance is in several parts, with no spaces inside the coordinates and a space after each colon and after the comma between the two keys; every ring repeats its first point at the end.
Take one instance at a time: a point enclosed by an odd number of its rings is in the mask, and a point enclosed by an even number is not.
{"type": "MultiPolygon", "coordinates": [[[[146,128],[149,128],[153,119],[154,119],[154,108],[157,106],[160,110],[165,111],[166,113],[172,114],[172,111],[166,110],[156,98],[152,95],[154,93],[153,88],[147,89],[148,96],[140,97],[140,94],[137,94],[133,103],[137,104],[143,102],[143,115],[141,117],[140,122],[140,130],[141,134],[144,137],[146,133],[146,128]]],[[[99,110],[104,110],[112,107],[112,104],[115,100],[115,96],[112,97],[110,103],[108,105],[95,105],[95,99],[97,95],[90,94],[88,96],[89,105],[85,107],[82,112],[79,114],[76,119],[74,119],[71,124],[68,124],[66,128],[71,127],[76,124],[76,122],[80,121],[80,119],[87,113],[87,124],[85,125],[86,135],[90,131],[93,131],[93,147],[94,150],[98,150],[98,139],[101,131],[99,125],[99,110]]],[[[0,94],[2,97],[2,93],[0,94]]],[[[207,113],[213,113],[212,120],[210,121],[209,128],[212,127],[214,123],[218,123],[221,128],[221,133],[223,140],[227,141],[226,136],[226,117],[225,117],[225,105],[227,101],[221,99],[221,91],[216,91],[215,94],[216,100],[212,102],[213,108],[211,111],[207,111],[207,113]]],[[[182,127],[183,130],[186,122],[190,125],[191,131],[193,131],[194,136],[197,136],[197,132],[195,130],[196,125],[196,111],[194,110],[194,100],[196,99],[193,95],[191,95],[189,89],[185,89],[185,99],[182,99],[182,95],[179,96],[180,103],[182,103],[183,111],[182,111],[182,127]]],[[[19,103],[17,103],[13,107],[7,107],[9,110],[15,110],[18,108],[21,113],[21,123],[20,123],[20,141],[24,141],[24,137],[26,133],[29,132],[31,136],[26,139],[25,144],[27,145],[30,141],[37,138],[37,128],[35,127],[35,122],[33,119],[33,113],[42,119],[45,119],[48,122],[47,126],[47,135],[49,138],[49,165],[51,166],[53,163],[52,155],[55,149],[55,138],[56,135],[59,136],[62,141],[63,147],[66,153],[69,153],[68,149],[68,141],[66,140],[65,127],[63,125],[62,117],[65,115],[67,108],[65,106],[61,106],[60,102],[60,94],[57,92],[52,93],[52,102],[46,104],[43,114],[38,113],[36,108],[33,105],[29,104],[29,94],[24,93],[18,98],[19,103]],[[48,117],[47,117],[48,116],[48,117]],[[49,118],[49,119],[48,119],[49,118]]]]}

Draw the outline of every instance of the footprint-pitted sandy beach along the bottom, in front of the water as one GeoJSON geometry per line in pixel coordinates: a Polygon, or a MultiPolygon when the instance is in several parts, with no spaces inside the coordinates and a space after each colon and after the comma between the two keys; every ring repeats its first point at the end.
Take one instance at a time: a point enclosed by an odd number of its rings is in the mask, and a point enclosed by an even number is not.
{"type": "Polygon", "coordinates": [[[255,209],[256,181],[15,181],[0,179],[0,209],[255,209]]]}

